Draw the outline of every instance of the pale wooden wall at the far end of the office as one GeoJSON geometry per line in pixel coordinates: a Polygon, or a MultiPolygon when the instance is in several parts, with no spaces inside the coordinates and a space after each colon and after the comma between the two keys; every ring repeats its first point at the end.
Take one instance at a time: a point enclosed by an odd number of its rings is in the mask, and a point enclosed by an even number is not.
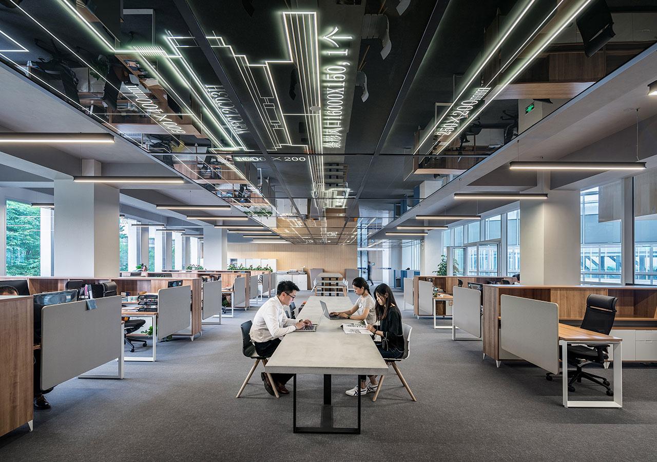
{"type": "Polygon", "coordinates": [[[339,272],[357,268],[355,245],[228,244],[228,258],[276,259],[276,269],[323,268],[339,272]]]}

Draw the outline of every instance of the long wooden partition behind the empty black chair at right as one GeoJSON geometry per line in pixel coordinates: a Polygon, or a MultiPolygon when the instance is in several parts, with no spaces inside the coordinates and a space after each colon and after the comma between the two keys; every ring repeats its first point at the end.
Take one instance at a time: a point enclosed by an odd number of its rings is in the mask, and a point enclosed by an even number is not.
{"type": "Polygon", "coordinates": [[[513,295],[558,305],[558,320],[579,326],[589,294],[618,297],[614,329],[654,329],[657,327],[657,286],[484,286],[484,354],[501,361],[505,357],[499,342],[502,295],[513,295]]]}

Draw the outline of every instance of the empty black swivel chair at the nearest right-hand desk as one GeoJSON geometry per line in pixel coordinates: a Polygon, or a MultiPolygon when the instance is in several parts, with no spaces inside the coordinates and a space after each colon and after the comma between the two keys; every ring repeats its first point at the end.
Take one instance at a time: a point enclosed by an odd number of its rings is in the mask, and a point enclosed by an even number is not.
{"type": "MultiPolygon", "coordinates": [[[[599,332],[600,334],[609,335],[612,327],[614,326],[614,319],[616,318],[616,302],[618,298],[608,297],[607,295],[597,295],[591,294],[586,299],[586,313],[584,313],[584,319],[581,322],[581,328],[586,330],[593,330],[593,332],[599,332]]],[[[582,371],[582,367],[589,363],[596,363],[599,365],[604,365],[604,361],[609,358],[607,354],[608,345],[594,345],[594,346],[569,346],[568,347],[568,364],[576,368],[575,371],[568,371],[568,391],[574,392],[575,387],[573,384],[577,380],[581,382],[582,378],[591,380],[600,386],[606,388],[606,394],[608,396],[614,396],[611,387],[609,386],[609,381],[599,375],[589,374],[589,372],[582,371]]],[[[620,361],[620,358],[618,358],[620,361]]],[[[562,365],[562,374],[563,370],[568,369],[568,365],[562,365]]],[[[552,380],[553,374],[548,372],[545,375],[547,380],[552,380]]]]}

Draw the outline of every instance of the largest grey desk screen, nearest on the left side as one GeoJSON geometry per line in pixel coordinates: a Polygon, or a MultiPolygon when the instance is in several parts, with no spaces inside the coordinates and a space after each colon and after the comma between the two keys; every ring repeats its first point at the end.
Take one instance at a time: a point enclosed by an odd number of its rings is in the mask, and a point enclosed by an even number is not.
{"type": "Polygon", "coordinates": [[[42,390],[121,356],[121,297],[95,303],[95,309],[84,300],[41,309],[42,390]]]}

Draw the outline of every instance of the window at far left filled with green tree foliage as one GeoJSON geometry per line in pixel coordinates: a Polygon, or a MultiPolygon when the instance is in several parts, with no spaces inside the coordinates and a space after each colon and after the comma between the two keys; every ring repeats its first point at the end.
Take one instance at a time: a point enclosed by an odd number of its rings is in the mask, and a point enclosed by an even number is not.
{"type": "Polygon", "coordinates": [[[11,200],[7,200],[7,275],[41,275],[41,209],[11,200]]]}

